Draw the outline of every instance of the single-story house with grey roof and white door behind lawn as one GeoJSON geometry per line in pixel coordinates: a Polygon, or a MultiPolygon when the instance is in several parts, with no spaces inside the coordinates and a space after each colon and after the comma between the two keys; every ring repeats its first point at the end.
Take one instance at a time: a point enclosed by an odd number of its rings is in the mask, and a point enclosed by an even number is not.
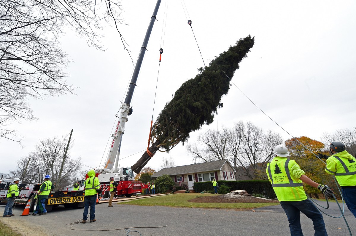
{"type": "Polygon", "coordinates": [[[176,186],[182,178],[182,184],[187,184],[189,189],[193,189],[194,182],[218,180],[235,180],[235,169],[228,160],[218,160],[203,163],[194,163],[185,166],[175,166],[163,168],[157,171],[151,177],[153,179],[169,175],[176,186]]]}

